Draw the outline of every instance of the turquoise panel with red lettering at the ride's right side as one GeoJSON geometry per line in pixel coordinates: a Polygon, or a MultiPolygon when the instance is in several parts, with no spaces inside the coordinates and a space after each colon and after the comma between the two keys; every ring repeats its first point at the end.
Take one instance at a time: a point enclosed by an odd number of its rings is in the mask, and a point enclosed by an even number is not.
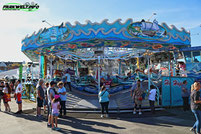
{"type": "Polygon", "coordinates": [[[194,78],[187,77],[163,77],[162,78],[162,106],[182,106],[182,90],[183,81],[187,81],[187,89],[191,90],[194,78]]]}

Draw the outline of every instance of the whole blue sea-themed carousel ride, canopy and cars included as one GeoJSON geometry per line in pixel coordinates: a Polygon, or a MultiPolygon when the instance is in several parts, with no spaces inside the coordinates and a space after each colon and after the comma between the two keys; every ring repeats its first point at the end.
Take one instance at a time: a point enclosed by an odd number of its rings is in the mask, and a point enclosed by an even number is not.
{"type": "Polygon", "coordinates": [[[161,76],[175,75],[175,53],[189,46],[184,28],[132,19],[67,22],[22,40],[22,52],[40,64],[40,78],[59,81],[68,70],[73,88],[91,94],[102,84],[110,93],[128,90],[136,79],[144,90],[154,84],[159,94],[161,76]]]}

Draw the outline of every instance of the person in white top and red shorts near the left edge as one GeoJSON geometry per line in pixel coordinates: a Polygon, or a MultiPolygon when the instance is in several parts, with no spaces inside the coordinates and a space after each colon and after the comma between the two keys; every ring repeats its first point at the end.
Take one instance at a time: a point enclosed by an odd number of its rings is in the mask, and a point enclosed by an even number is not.
{"type": "Polygon", "coordinates": [[[16,103],[18,104],[18,111],[16,112],[16,114],[21,114],[22,113],[22,84],[21,84],[21,80],[17,81],[17,87],[15,89],[15,99],[16,99],[16,103]]]}

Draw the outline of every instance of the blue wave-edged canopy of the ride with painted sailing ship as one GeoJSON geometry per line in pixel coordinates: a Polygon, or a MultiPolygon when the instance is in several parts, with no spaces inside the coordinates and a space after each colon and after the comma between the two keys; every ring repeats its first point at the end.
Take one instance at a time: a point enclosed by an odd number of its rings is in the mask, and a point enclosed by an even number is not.
{"type": "Polygon", "coordinates": [[[82,48],[118,47],[149,50],[173,50],[189,47],[190,33],[174,25],[158,24],[156,20],[133,22],[127,19],[121,23],[117,19],[108,23],[87,21],[86,24],[69,22],[59,26],[40,29],[37,33],[22,40],[22,52],[32,61],[38,61],[40,54],[54,54],[75,51],[82,48]]]}

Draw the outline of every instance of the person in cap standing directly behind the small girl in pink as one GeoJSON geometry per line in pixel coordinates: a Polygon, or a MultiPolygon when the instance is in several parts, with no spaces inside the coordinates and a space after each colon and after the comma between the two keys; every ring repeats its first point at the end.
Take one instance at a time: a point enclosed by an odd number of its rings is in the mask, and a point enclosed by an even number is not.
{"type": "Polygon", "coordinates": [[[54,99],[54,96],[56,93],[56,90],[55,90],[55,85],[56,85],[56,82],[54,81],[51,81],[50,82],[50,87],[47,89],[47,98],[48,98],[48,123],[47,123],[47,126],[48,127],[51,127],[50,123],[51,123],[51,113],[52,113],[52,107],[51,107],[51,103],[54,99]]]}

